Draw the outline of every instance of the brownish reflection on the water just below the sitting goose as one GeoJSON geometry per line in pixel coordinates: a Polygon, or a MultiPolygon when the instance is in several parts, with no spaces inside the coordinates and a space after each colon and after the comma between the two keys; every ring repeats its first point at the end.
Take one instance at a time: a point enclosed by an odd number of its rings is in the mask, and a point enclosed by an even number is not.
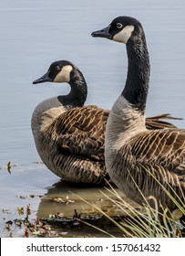
{"type": "MultiPolygon", "coordinates": [[[[107,188],[111,190],[110,187],[107,188]]],[[[53,187],[50,187],[46,196],[41,199],[37,211],[37,218],[47,219],[50,215],[58,213],[66,218],[72,218],[75,210],[77,214],[85,216],[99,215],[98,210],[93,205],[103,210],[108,216],[123,216],[125,213],[109,199],[118,199],[118,197],[108,192],[108,189],[105,187],[74,185],[63,181],[58,182],[53,187]],[[102,193],[106,194],[109,198],[102,193]],[[83,200],[86,200],[88,204],[83,200]]],[[[114,189],[119,197],[138,208],[138,205],[125,197],[118,188],[114,187],[114,189]]]]}

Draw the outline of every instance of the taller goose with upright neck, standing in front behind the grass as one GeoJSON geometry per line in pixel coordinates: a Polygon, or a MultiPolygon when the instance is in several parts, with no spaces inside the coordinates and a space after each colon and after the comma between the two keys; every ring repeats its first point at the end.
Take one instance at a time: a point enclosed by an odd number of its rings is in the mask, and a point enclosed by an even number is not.
{"type": "MultiPolygon", "coordinates": [[[[139,204],[146,202],[138,188],[146,198],[156,197],[163,207],[173,211],[176,205],[158,181],[178,201],[185,202],[185,130],[149,130],[146,127],[149,52],[143,27],[133,17],[118,16],[92,36],[124,43],[128,54],[125,88],[108,115],[106,127],[108,175],[139,204]]],[[[153,200],[149,200],[149,204],[154,207],[153,200]]]]}

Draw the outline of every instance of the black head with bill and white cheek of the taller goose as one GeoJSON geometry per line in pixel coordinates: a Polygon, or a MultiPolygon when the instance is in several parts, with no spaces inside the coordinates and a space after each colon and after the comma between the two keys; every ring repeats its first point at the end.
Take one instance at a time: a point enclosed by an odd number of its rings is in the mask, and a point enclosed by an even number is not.
{"type": "Polygon", "coordinates": [[[116,17],[108,27],[92,32],[92,37],[105,37],[110,40],[127,44],[128,41],[139,35],[142,26],[139,21],[130,16],[116,17]]]}

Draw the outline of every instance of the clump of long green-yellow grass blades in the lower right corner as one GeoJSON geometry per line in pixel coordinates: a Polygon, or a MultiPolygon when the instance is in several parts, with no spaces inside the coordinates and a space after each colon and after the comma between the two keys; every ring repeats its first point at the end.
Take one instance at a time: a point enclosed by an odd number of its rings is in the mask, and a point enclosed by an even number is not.
{"type": "MultiPolygon", "coordinates": [[[[147,172],[149,170],[146,169],[147,172]]],[[[129,173],[128,173],[129,174],[129,173]]],[[[159,203],[155,197],[146,198],[140,191],[139,187],[135,183],[139,193],[144,198],[144,205],[143,208],[138,209],[134,208],[129,204],[125,199],[120,197],[113,186],[111,186],[108,181],[108,187],[106,188],[106,192],[101,192],[101,194],[106,197],[108,200],[112,202],[118,209],[121,210],[123,213],[122,216],[127,217],[120,217],[118,220],[115,218],[111,218],[105,213],[101,208],[98,208],[97,205],[89,203],[87,200],[80,198],[82,201],[86,202],[91,207],[95,208],[102,216],[108,218],[110,221],[117,226],[119,230],[123,232],[123,237],[131,237],[131,238],[177,238],[177,237],[185,237],[184,230],[185,230],[185,223],[180,222],[180,217],[185,216],[185,206],[184,206],[184,194],[183,199],[178,197],[177,193],[173,190],[173,188],[168,184],[168,189],[164,187],[159,181],[153,176],[150,172],[149,175],[152,176],[160,187],[164,190],[168,197],[174,202],[177,209],[174,212],[170,212],[168,208],[163,208],[163,206],[159,203]],[[111,197],[110,197],[111,196],[111,197]],[[149,200],[153,200],[154,207],[150,207],[149,200]]],[[[134,180],[133,180],[134,181],[134,180]]],[[[79,221],[82,221],[78,219],[79,221]]],[[[83,223],[87,223],[82,221],[83,223]]],[[[102,233],[106,233],[110,237],[113,237],[111,234],[108,234],[103,229],[99,229],[94,225],[90,225],[91,227],[102,231],[102,233]]]]}

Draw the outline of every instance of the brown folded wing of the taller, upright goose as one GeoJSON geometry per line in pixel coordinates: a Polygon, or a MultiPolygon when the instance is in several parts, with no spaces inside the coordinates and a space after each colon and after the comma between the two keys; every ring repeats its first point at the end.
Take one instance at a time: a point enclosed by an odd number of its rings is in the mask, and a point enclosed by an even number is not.
{"type": "Polygon", "coordinates": [[[185,130],[170,129],[140,133],[131,139],[136,161],[160,165],[185,182],[185,130]]]}

